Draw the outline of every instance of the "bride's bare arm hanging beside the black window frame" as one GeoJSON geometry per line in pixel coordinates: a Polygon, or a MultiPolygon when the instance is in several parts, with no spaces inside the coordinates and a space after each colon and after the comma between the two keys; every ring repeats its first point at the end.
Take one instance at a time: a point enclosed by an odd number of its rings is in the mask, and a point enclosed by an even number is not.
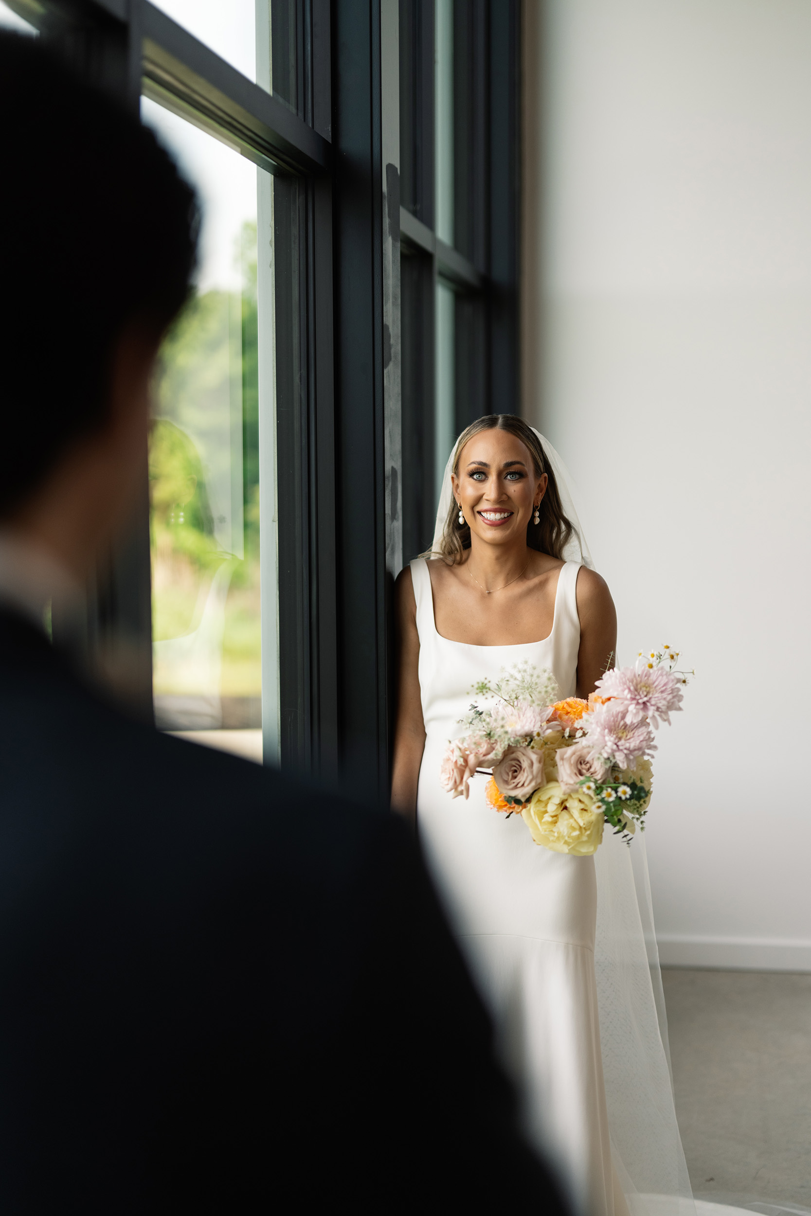
{"type": "Polygon", "coordinates": [[[392,766],[392,807],[413,820],[417,814],[417,781],[426,745],[419,698],[419,635],[411,569],[406,565],[394,587],[398,626],[398,716],[392,766]]]}

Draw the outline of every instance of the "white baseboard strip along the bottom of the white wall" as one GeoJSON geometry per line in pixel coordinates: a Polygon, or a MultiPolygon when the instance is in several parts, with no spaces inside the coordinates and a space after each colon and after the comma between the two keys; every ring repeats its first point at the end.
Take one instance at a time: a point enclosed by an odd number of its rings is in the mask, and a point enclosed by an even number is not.
{"type": "Polygon", "coordinates": [[[663,967],[720,972],[811,972],[811,941],[787,938],[657,936],[663,967]]]}

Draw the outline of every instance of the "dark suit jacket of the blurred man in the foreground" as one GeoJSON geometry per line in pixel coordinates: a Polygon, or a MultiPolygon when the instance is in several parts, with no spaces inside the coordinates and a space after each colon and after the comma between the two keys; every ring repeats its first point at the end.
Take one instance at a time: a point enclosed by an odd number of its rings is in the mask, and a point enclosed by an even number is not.
{"type": "Polygon", "coordinates": [[[0,1068],[4,1211],[550,1195],[399,817],[129,721],[2,613],[0,1068]]]}

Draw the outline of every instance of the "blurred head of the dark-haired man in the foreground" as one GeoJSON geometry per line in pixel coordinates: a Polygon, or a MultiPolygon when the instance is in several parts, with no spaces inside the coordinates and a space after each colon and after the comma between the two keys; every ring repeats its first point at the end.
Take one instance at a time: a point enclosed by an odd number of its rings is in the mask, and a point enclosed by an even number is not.
{"type": "Polygon", "coordinates": [[[143,478],[197,206],[137,117],[34,39],[0,33],[0,527],[81,575],[143,478]]]}

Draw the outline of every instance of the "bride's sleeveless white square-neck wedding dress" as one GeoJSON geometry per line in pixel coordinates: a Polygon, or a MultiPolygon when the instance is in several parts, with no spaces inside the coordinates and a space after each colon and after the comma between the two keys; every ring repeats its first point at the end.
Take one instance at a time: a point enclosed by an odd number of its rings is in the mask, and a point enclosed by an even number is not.
{"type": "MultiPolygon", "coordinates": [[[[471,646],[437,632],[428,565],[411,562],[419,634],[426,749],[417,823],[428,868],[496,1025],[502,1060],[519,1090],[524,1125],[580,1214],[614,1216],[595,979],[593,857],[551,852],[520,816],[484,796],[488,778],[452,799],[439,784],[447,741],[474,699],[472,685],[529,660],[548,668],[561,697],[575,691],[580,564],[559,572],[552,632],[541,642],[471,646]]],[[[619,1189],[619,1188],[618,1188],[619,1189]]],[[[618,1210],[625,1205],[618,1195],[618,1210]]]]}

